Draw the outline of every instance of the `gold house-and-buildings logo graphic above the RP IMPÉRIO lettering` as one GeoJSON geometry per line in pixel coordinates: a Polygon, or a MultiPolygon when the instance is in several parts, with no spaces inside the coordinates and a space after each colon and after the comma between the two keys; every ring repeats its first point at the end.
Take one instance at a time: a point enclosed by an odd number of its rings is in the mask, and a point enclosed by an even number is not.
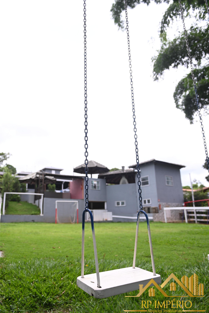
{"type": "MultiPolygon", "coordinates": [[[[167,295],[165,291],[162,289],[165,285],[170,282],[171,279],[174,279],[175,282],[170,283],[170,291],[176,290],[176,283],[187,293],[189,297],[204,297],[204,285],[198,282],[198,276],[194,273],[188,278],[186,275],[181,277],[181,281],[172,273],[170,276],[159,286],[153,279],[151,279],[147,285],[139,285],[139,293],[136,296],[126,296],[126,297],[140,297],[145,290],[147,290],[150,285],[154,285],[165,297],[181,297],[179,295],[167,295]]],[[[149,296],[155,296],[154,288],[149,288],[149,296]]]]}

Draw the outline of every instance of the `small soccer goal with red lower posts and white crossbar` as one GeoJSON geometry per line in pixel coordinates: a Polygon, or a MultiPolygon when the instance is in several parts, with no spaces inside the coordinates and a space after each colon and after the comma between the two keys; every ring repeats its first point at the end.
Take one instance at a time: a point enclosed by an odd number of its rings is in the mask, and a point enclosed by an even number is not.
{"type": "Polygon", "coordinates": [[[56,200],[55,224],[71,223],[78,224],[78,201],[56,200]]]}

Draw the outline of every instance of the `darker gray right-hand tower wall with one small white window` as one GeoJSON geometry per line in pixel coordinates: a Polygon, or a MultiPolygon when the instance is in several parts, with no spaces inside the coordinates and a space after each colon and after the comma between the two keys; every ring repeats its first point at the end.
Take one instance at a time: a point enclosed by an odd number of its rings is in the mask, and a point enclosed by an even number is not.
{"type": "Polygon", "coordinates": [[[180,169],[172,165],[155,164],[157,195],[160,203],[183,203],[180,169]],[[173,186],[165,185],[165,175],[173,177],[173,186]]]}

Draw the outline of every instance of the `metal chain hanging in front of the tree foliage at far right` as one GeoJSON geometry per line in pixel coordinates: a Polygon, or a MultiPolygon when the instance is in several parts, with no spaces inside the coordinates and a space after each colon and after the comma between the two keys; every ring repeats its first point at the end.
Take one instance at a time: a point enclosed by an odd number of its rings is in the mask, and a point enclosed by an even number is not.
{"type": "Polygon", "coordinates": [[[203,130],[203,125],[202,125],[202,115],[200,113],[199,97],[198,97],[198,94],[197,94],[196,81],[195,81],[195,76],[194,76],[194,70],[193,70],[193,65],[192,65],[191,53],[190,53],[190,48],[189,48],[189,43],[188,43],[188,34],[187,34],[186,27],[185,27],[184,15],[183,15],[183,7],[182,7],[182,4],[181,4],[181,0],[179,0],[179,6],[180,6],[180,10],[181,10],[181,19],[182,19],[183,27],[184,27],[184,37],[185,37],[185,41],[186,41],[186,49],[187,49],[187,53],[188,53],[188,57],[189,57],[189,63],[190,63],[190,66],[191,66],[191,76],[192,76],[192,81],[193,81],[194,90],[195,90],[196,105],[197,105],[197,108],[198,108],[197,110],[199,112],[199,118],[200,118],[200,124],[201,124],[201,129],[202,129],[202,136],[203,136],[204,147],[205,147],[205,154],[206,154],[206,160],[207,160],[207,167],[208,167],[208,172],[209,172],[209,157],[208,157],[207,146],[206,146],[206,141],[205,141],[205,132],[203,130]]]}

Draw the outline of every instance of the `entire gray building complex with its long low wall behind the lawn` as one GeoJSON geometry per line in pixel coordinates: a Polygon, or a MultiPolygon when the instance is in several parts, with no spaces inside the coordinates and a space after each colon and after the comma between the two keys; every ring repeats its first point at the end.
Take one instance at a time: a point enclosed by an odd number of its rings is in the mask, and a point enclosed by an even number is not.
{"type": "MultiPolygon", "coordinates": [[[[140,163],[141,189],[143,209],[150,219],[164,221],[164,207],[182,206],[184,202],[181,185],[180,168],[183,165],[149,160],[140,163]]],[[[54,177],[56,185],[69,186],[64,193],[44,192],[43,216],[2,216],[1,221],[55,221],[56,200],[78,201],[79,222],[82,221],[82,212],[85,208],[85,178],[84,176],[61,175],[62,169],[46,167],[38,175],[45,174],[54,177]],[[13,220],[15,218],[15,220],[13,220]]],[[[20,178],[23,180],[23,178],[20,178]]],[[[27,176],[24,177],[27,180],[27,176]]],[[[98,178],[89,177],[89,208],[91,210],[107,210],[112,212],[115,222],[135,222],[139,211],[138,178],[136,164],[128,169],[101,173],[98,178]]],[[[97,211],[98,212],[98,211],[97,211]]],[[[180,220],[179,211],[166,211],[168,220],[180,220]],[[167,213],[168,212],[168,213],[167,213]]],[[[142,221],[143,221],[142,217],[142,221]]]]}

